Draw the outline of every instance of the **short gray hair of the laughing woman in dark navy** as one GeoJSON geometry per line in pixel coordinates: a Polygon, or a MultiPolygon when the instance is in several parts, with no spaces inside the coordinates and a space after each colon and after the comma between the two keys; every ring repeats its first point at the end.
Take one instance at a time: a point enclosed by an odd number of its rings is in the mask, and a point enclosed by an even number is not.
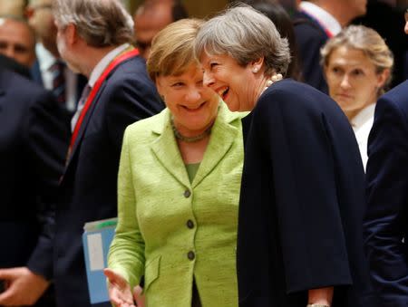
{"type": "Polygon", "coordinates": [[[240,65],[264,57],[265,74],[287,72],[290,52],[286,38],[266,15],[249,5],[237,5],[209,19],[197,35],[195,54],[228,54],[240,65]]]}

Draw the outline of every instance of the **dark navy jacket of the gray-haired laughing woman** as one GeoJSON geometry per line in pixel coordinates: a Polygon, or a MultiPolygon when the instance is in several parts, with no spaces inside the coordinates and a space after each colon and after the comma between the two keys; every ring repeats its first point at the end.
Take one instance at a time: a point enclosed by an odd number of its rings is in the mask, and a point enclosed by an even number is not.
{"type": "Polygon", "coordinates": [[[239,305],[305,307],[335,285],[334,307],[375,306],[363,250],[364,170],[342,110],[285,80],[244,119],[239,305]]]}

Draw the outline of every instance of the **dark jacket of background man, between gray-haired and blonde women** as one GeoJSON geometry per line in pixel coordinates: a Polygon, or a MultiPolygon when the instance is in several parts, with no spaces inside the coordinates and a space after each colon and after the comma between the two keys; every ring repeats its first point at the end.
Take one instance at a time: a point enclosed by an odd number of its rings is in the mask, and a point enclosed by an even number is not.
{"type": "Polygon", "coordinates": [[[303,80],[317,90],[327,93],[327,83],[320,65],[320,48],[328,36],[321,25],[307,14],[296,12],[293,19],[303,80]]]}

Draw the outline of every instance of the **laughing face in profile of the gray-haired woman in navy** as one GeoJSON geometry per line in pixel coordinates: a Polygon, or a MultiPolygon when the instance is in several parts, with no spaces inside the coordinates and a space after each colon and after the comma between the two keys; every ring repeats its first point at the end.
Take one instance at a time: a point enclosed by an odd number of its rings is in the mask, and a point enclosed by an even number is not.
{"type": "MultiPolygon", "coordinates": [[[[204,86],[216,91],[227,103],[229,110],[254,109],[257,97],[262,91],[254,73],[254,67],[260,66],[259,63],[243,67],[226,54],[208,53],[200,57],[200,62],[204,70],[204,86]]],[[[257,70],[259,69],[258,67],[257,70]]]]}

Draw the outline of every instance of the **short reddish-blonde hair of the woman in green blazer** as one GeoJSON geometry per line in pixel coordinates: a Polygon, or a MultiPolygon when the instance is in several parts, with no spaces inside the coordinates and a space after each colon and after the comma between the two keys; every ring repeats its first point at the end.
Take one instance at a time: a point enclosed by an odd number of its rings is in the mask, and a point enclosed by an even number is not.
{"type": "Polygon", "coordinates": [[[160,75],[180,75],[191,63],[199,64],[194,57],[194,43],[203,23],[199,19],[181,19],[156,34],[147,60],[147,70],[153,82],[160,75]]]}

